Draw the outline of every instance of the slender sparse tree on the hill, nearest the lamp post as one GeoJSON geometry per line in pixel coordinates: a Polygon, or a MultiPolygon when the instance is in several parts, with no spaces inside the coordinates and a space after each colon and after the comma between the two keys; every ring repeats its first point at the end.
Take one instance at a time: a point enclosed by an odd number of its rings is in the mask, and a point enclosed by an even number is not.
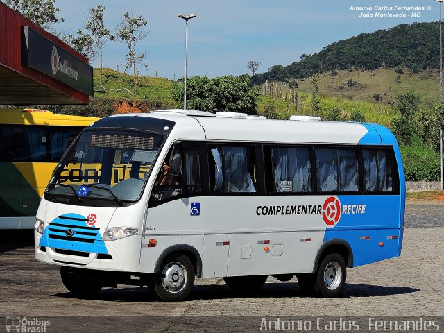
{"type": "Polygon", "coordinates": [[[143,65],[148,69],[148,65],[144,62],[146,53],[137,53],[136,47],[141,40],[144,40],[148,31],[146,26],[148,22],[143,15],[134,16],[133,13],[126,12],[123,14],[121,22],[117,24],[116,36],[117,41],[126,44],[128,52],[126,56],[125,73],[129,67],[133,67],[134,74],[134,92],[137,92],[137,81],[139,78],[139,71],[137,71],[137,65],[143,65]]]}

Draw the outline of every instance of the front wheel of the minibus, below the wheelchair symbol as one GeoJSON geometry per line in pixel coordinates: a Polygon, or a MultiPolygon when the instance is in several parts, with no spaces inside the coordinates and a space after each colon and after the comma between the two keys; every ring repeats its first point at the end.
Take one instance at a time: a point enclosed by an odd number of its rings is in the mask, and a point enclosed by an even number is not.
{"type": "Polygon", "coordinates": [[[162,300],[185,300],[194,286],[194,266],[186,255],[171,255],[164,259],[153,280],[154,291],[162,300]]]}

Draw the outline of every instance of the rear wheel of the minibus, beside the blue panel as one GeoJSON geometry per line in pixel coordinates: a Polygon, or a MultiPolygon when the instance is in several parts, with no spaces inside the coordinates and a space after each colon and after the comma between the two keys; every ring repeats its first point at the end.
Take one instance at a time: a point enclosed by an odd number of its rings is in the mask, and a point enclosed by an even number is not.
{"type": "Polygon", "coordinates": [[[344,259],[337,253],[324,257],[316,272],[314,290],[319,296],[336,298],[341,295],[347,280],[344,259]]]}

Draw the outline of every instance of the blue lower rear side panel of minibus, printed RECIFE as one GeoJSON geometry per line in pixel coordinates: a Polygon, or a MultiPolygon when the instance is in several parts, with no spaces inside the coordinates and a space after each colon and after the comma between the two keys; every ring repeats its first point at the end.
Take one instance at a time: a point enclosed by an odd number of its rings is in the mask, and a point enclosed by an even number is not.
{"type": "Polygon", "coordinates": [[[341,216],[333,228],[327,228],[324,243],[330,239],[343,239],[353,251],[353,266],[370,264],[398,257],[402,241],[400,196],[366,195],[338,196],[341,216]],[[365,205],[363,207],[359,205],[365,205]],[[360,239],[360,237],[370,239],[360,239]],[[396,236],[396,239],[387,239],[396,236]],[[384,246],[379,246],[379,242],[384,246]]]}

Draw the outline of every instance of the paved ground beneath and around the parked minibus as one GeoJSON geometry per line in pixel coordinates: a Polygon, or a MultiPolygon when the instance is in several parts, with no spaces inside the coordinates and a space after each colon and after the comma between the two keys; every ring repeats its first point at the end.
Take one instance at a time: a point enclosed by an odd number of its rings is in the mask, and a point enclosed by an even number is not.
{"type": "MultiPolygon", "coordinates": [[[[268,278],[261,290],[250,294],[228,288],[221,279],[199,279],[191,298],[178,303],[157,302],[145,289],[123,286],[82,300],[63,287],[57,266],[35,261],[32,236],[22,244],[10,239],[0,245],[0,316],[162,316],[151,327],[154,332],[191,332],[196,322],[208,318],[214,318],[210,324],[215,330],[226,325],[221,318],[234,325],[236,318],[244,316],[444,316],[443,216],[444,204],[407,205],[409,228],[404,232],[401,257],[348,270],[345,295],[335,300],[302,296],[295,278],[290,282],[268,278]],[[187,323],[185,328],[171,325],[178,318],[187,323]]],[[[85,322],[90,330],[99,325],[99,320],[86,318],[75,322],[85,322]]],[[[116,321],[119,317],[107,318],[116,321]]],[[[134,320],[148,321],[145,316],[134,320]]]]}

